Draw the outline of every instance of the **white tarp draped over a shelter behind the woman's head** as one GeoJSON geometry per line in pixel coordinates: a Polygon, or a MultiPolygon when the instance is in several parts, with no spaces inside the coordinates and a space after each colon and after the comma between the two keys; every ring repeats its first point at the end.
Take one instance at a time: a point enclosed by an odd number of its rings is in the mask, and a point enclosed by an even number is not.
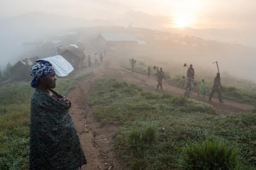
{"type": "Polygon", "coordinates": [[[67,76],[69,73],[71,73],[74,70],[73,66],[65,58],[63,58],[60,55],[47,57],[47,58],[40,58],[38,60],[45,60],[52,63],[56,74],[60,77],[67,76]]]}

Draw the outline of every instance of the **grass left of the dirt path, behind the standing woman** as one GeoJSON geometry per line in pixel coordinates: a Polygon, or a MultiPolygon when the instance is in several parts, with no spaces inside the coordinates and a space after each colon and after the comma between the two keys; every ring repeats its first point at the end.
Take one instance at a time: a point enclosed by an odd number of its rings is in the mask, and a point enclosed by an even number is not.
{"type": "MultiPolygon", "coordinates": [[[[71,78],[60,78],[54,89],[66,95],[77,81],[92,72],[83,72],[71,78]]],[[[0,87],[0,169],[28,168],[30,98],[34,88],[28,82],[0,87]]]]}

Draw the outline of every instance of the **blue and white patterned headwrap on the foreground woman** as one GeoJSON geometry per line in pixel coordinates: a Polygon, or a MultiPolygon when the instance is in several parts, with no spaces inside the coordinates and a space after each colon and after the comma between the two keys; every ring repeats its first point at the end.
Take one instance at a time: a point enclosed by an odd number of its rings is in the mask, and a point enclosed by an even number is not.
{"type": "Polygon", "coordinates": [[[31,87],[38,88],[39,77],[53,72],[54,68],[52,66],[49,61],[37,60],[30,69],[30,75],[33,77],[31,87]]]}

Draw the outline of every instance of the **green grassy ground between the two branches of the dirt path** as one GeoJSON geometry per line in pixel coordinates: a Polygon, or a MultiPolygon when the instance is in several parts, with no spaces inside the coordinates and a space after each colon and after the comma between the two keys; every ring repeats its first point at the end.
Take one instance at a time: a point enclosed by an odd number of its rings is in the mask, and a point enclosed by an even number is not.
{"type": "Polygon", "coordinates": [[[113,79],[96,83],[89,104],[102,124],[123,124],[115,147],[131,169],[256,169],[256,113],[218,115],[206,103],[113,79]]]}

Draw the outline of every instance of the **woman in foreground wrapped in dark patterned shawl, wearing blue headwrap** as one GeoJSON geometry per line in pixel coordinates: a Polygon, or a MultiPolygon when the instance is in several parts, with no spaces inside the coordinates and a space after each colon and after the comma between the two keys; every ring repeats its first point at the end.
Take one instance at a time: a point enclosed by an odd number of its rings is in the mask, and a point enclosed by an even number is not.
{"type": "Polygon", "coordinates": [[[75,170],[87,164],[73,120],[71,102],[53,91],[55,70],[48,61],[38,60],[30,69],[31,98],[29,169],[75,170]]]}

